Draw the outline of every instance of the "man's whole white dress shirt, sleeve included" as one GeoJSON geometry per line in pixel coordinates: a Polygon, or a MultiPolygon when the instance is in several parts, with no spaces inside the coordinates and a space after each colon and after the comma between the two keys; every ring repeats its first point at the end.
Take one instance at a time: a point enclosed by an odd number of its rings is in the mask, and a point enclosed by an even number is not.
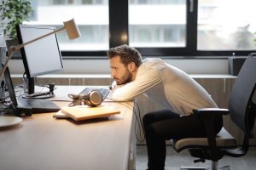
{"type": "Polygon", "coordinates": [[[143,59],[136,79],[116,88],[112,99],[127,101],[139,94],[179,115],[189,115],[193,109],[218,107],[192,77],[161,59],[143,59]]]}

